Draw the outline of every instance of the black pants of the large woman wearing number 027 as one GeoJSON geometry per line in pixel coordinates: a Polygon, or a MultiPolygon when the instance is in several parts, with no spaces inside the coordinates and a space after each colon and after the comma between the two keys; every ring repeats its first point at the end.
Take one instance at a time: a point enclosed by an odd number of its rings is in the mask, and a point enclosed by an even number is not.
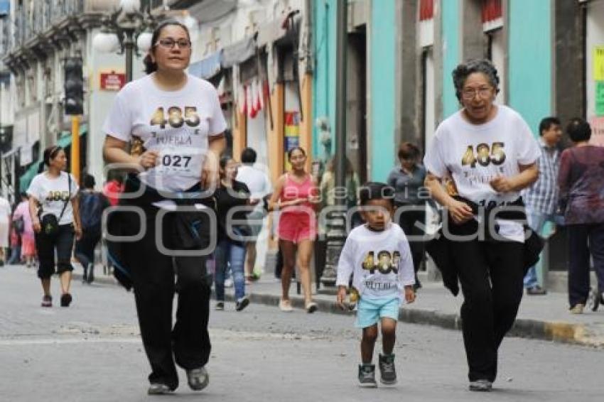
{"type": "MultiPolygon", "coordinates": [[[[131,268],[136,311],[141,336],[151,364],[151,383],[161,383],[176,389],[178,376],[175,361],[183,369],[205,366],[210,357],[210,283],[205,257],[168,256],[156,245],[155,207],[145,208],[146,231],[140,241],[127,244],[124,261],[131,268]],[[176,276],[176,283],[175,283],[176,276]],[[172,304],[178,293],[176,323],[172,326],[172,304]]],[[[139,232],[136,214],[123,213],[125,226],[131,234],[139,232]]],[[[173,231],[171,214],[163,219],[161,237],[168,249],[173,231]]]]}

